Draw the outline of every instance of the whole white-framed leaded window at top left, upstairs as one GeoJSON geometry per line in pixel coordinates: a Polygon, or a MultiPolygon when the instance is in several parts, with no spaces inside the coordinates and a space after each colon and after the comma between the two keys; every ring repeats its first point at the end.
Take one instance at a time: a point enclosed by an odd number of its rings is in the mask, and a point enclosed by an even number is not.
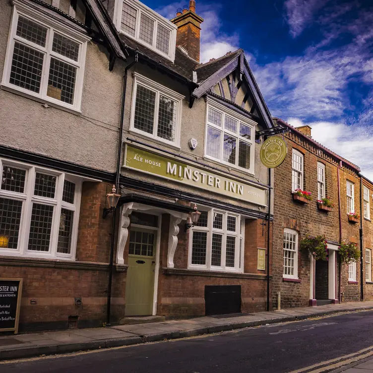
{"type": "Polygon", "coordinates": [[[1,85],[79,111],[90,38],[15,4],[1,85]]]}

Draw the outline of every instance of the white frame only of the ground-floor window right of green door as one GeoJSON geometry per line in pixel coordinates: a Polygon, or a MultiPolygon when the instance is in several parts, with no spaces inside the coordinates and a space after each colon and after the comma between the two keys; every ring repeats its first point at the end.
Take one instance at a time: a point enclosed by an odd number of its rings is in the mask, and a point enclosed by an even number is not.
{"type": "Polygon", "coordinates": [[[207,270],[207,271],[219,271],[219,272],[244,272],[244,251],[245,251],[245,219],[241,215],[237,215],[228,211],[223,211],[219,209],[208,209],[202,208],[201,211],[208,211],[207,217],[207,227],[192,227],[189,229],[189,247],[188,247],[188,268],[189,269],[198,269],[198,270],[207,270]],[[223,214],[223,229],[213,228],[213,216],[214,213],[223,214]],[[227,230],[227,216],[236,217],[236,231],[227,230]],[[193,244],[193,232],[200,231],[207,233],[207,242],[206,242],[206,263],[205,264],[192,264],[192,244],[193,244]],[[221,265],[213,266],[211,265],[212,258],[212,235],[217,233],[222,235],[222,250],[221,250],[221,265]],[[236,237],[235,241],[235,266],[228,267],[226,266],[226,239],[227,236],[236,237]],[[241,242],[241,249],[240,249],[241,242]]]}

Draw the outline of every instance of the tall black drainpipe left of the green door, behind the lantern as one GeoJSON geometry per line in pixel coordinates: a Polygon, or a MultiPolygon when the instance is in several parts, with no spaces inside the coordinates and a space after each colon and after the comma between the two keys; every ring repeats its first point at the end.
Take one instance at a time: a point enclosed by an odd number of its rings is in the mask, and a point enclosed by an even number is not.
{"type": "MultiPolygon", "coordinates": [[[[118,139],[118,154],[117,154],[117,169],[115,186],[117,191],[119,190],[119,178],[121,175],[121,157],[122,157],[122,141],[123,141],[123,122],[124,122],[124,99],[125,91],[127,87],[127,75],[128,69],[132,67],[138,61],[138,54],[135,52],[134,60],[124,68],[123,75],[123,89],[122,89],[122,102],[121,102],[121,123],[119,124],[119,139],[118,139]]],[[[113,212],[112,221],[112,237],[110,244],[110,262],[109,262],[109,280],[108,280],[108,299],[106,307],[106,326],[110,326],[110,307],[112,299],[112,283],[113,283],[113,267],[114,267],[114,247],[115,247],[115,227],[116,227],[116,210],[113,212]]]]}

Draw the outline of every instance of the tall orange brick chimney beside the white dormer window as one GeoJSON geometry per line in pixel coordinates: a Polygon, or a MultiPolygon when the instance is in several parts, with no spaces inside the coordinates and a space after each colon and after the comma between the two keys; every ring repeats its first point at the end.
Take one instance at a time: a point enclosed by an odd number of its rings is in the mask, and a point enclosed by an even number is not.
{"type": "Polygon", "coordinates": [[[171,22],[178,26],[176,45],[186,50],[188,56],[199,62],[200,30],[203,19],[195,14],[195,1],[189,1],[189,8],[178,9],[171,22]]]}

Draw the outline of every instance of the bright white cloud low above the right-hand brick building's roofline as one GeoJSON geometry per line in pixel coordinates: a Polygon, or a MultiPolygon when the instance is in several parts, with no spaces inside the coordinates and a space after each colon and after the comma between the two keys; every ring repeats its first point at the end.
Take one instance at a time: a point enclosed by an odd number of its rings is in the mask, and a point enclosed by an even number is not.
{"type": "Polygon", "coordinates": [[[347,125],[333,122],[305,123],[289,118],[294,127],[310,125],[312,138],[348,161],[358,165],[362,174],[373,180],[373,128],[366,125],[347,125]]]}

